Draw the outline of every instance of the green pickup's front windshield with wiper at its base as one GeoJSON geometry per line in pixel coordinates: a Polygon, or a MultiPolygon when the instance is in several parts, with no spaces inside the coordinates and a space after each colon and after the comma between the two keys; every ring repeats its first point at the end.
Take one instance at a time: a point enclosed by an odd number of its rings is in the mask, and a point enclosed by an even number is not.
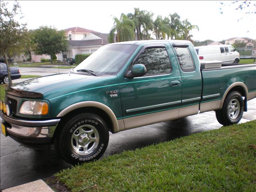
{"type": "Polygon", "coordinates": [[[86,69],[97,75],[116,74],[136,48],[137,45],[130,44],[102,46],[74,68],[74,72],[86,69]]]}

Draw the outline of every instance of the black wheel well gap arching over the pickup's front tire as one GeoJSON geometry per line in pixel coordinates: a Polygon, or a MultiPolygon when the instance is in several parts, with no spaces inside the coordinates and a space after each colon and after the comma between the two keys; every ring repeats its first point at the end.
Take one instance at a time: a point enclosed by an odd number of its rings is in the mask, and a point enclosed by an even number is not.
{"type": "Polygon", "coordinates": [[[58,123],[58,126],[54,132],[53,138],[56,137],[56,135],[58,135],[60,133],[60,130],[63,126],[63,124],[66,122],[66,119],[69,118],[70,116],[74,116],[76,114],[80,114],[80,113],[84,113],[84,112],[91,112],[91,113],[95,113],[97,115],[99,115],[100,117],[103,118],[103,120],[106,122],[107,126],[108,126],[108,130],[110,132],[112,132],[113,130],[113,124],[110,120],[110,117],[108,116],[108,114],[106,114],[106,112],[104,112],[103,110],[101,110],[100,108],[95,108],[95,107],[82,107],[82,108],[78,108],[76,110],[73,110],[71,112],[69,112],[68,114],[64,115],[60,122],[58,123]]]}

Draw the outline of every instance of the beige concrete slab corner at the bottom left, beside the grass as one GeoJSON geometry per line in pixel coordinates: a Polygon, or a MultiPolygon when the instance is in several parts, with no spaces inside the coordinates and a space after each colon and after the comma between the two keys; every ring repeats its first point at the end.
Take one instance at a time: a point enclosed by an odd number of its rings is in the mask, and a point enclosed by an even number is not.
{"type": "Polygon", "coordinates": [[[4,189],[2,192],[54,192],[54,190],[40,179],[16,187],[4,189]]]}

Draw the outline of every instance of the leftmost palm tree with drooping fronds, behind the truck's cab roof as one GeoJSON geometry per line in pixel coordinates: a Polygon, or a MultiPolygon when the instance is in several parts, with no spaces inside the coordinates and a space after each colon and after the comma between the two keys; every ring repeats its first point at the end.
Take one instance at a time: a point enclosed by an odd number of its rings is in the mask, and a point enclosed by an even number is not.
{"type": "Polygon", "coordinates": [[[111,28],[108,36],[108,41],[110,43],[114,42],[115,32],[116,32],[116,42],[134,40],[135,25],[134,25],[134,22],[126,16],[126,14],[122,13],[119,20],[117,17],[114,17],[113,20],[114,20],[114,26],[111,28]]]}

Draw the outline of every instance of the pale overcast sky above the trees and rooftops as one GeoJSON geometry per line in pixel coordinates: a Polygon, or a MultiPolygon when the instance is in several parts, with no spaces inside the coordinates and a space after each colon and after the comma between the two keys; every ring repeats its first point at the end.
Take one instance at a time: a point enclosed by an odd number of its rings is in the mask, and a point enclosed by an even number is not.
{"type": "MultiPolygon", "coordinates": [[[[13,1],[8,1],[9,6],[13,1]]],[[[58,30],[79,26],[109,33],[113,16],[134,13],[134,7],[157,15],[168,16],[177,12],[181,20],[199,27],[193,30],[193,40],[212,39],[220,41],[232,37],[256,39],[256,14],[235,10],[231,1],[225,1],[220,14],[220,1],[18,1],[22,6],[28,29],[39,26],[55,26],[58,30]],[[237,21],[242,18],[242,20],[237,21]]],[[[251,1],[252,4],[256,1],[251,1]]],[[[253,6],[249,7],[251,10],[253,6]]],[[[255,8],[254,8],[255,10],[255,8]]]]}

